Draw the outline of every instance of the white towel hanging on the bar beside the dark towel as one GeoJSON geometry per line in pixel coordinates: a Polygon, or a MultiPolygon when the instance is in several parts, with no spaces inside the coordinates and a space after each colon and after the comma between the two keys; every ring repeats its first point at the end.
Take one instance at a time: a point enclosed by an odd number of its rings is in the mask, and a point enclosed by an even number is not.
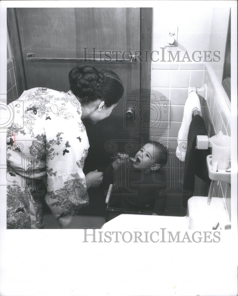
{"type": "Polygon", "coordinates": [[[194,91],[191,91],[184,105],[184,116],[178,133],[178,147],[176,149],[176,156],[181,161],[185,160],[188,130],[192,121],[192,111],[196,108],[200,111],[201,114],[201,104],[199,97],[194,91]]]}

